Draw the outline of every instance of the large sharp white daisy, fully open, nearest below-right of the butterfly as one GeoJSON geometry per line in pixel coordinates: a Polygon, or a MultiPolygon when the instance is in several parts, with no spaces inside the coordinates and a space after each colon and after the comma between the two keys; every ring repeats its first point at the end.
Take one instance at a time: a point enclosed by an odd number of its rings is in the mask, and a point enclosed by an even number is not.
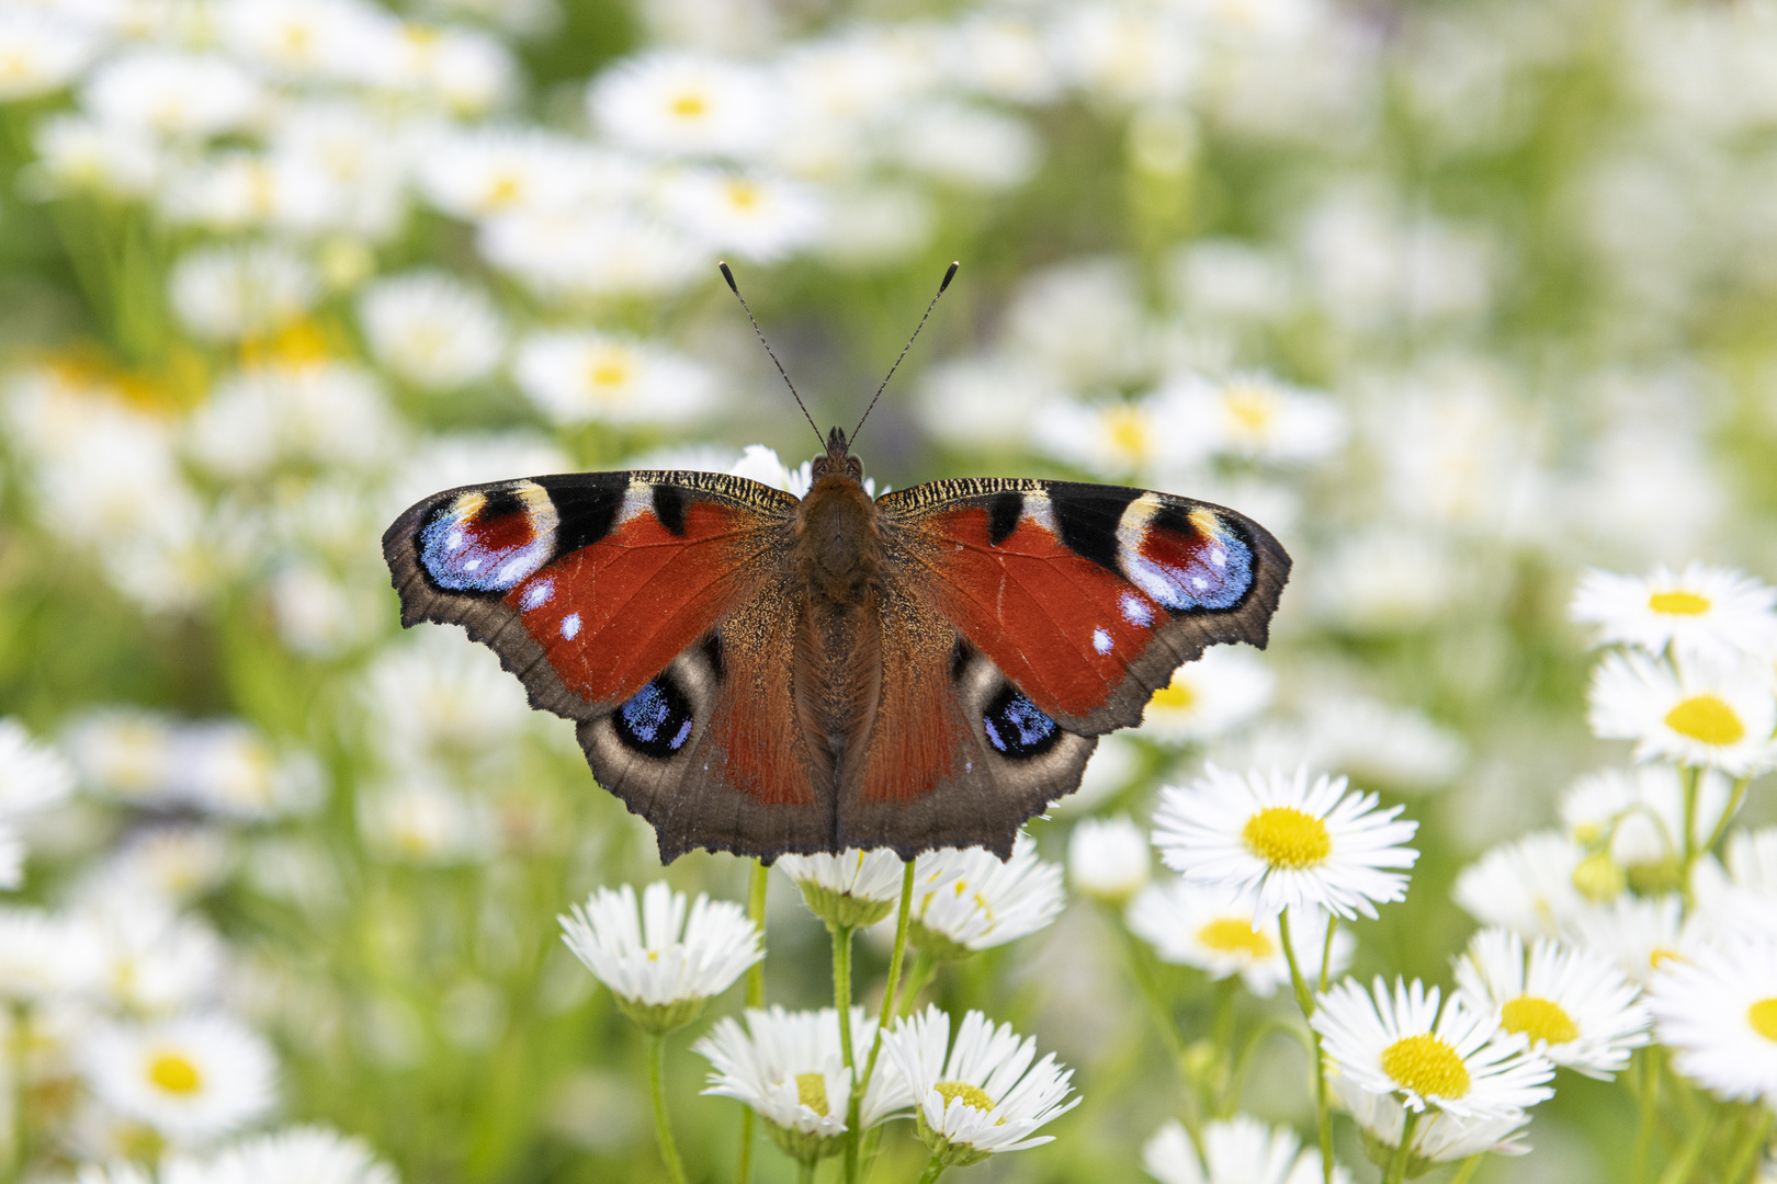
{"type": "Polygon", "coordinates": [[[1343,918],[1375,916],[1400,900],[1418,852],[1402,847],[1418,822],[1397,822],[1375,793],[1308,769],[1247,774],[1207,765],[1191,785],[1162,786],[1153,845],[1187,880],[1256,893],[1256,916],[1317,905],[1343,918]]]}

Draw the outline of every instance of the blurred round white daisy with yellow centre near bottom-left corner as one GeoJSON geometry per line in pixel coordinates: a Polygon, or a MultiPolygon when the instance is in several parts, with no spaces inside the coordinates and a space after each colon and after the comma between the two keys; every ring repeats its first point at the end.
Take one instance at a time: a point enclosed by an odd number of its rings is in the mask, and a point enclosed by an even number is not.
{"type": "Polygon", "coordinates": [[[251,1028],[222,1014],[91,1033],[85,1076],[110,1108],[174,1141],[227,1134],[275,1101],[277,1060],[251,1028]]]}

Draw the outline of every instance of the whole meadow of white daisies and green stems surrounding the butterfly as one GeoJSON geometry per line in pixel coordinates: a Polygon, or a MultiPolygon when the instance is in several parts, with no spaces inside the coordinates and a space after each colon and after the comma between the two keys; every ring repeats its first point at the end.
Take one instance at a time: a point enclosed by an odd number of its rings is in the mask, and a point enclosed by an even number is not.
{"type": "Polygon", "coordinates": [[[1777,1180],[1773,130],[1765,0],[0,0],[5,1179],[1777,1180]],[[1271,648],[661,868],[379,540],[807,488],[718,259],[823,430],[961,261],[878,492],[1231,506],[1271,648]]]}

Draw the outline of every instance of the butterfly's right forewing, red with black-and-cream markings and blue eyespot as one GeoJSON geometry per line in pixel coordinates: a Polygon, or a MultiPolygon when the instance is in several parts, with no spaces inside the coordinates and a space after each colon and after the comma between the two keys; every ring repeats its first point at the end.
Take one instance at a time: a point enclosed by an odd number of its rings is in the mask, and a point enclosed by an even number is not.
{"type": "MultiPolygon", "coordinates": [[[[1079,735],[1139,724],[1205,646],[1263,648],[1290,573],[1251,518],[1151,490],[954,479],[878,504],[968,644],[1079,735]]],[[[1016,747],[1004,728],[983,730],[1016,747]]]]}

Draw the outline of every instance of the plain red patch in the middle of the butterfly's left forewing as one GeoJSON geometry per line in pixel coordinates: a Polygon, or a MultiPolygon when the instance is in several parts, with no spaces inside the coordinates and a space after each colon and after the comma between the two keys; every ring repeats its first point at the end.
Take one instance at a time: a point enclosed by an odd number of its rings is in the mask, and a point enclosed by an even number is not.
{"type": "Polygon", "coordinates": [[[590,703],[641,691],[729,611],[746,582],[739,513],[695,501],[682,525],[675,534],[652,509],[640,509],[506,593],[562,682],[590,703]]]}

